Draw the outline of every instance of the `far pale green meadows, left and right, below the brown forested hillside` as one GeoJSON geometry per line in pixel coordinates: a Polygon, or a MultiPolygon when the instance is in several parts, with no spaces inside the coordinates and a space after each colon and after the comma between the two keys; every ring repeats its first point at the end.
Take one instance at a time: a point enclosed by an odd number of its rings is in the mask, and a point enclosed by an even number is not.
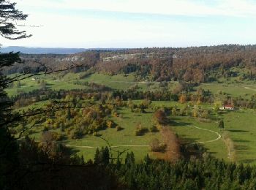
{"type": "MultiPolygon", "coordinates": [[[[14,75],[10,75],[13,77],[14,75]]],[[[46,87],[50,89],[89,89],[88,86],[76,85],[74,84],[78,81],[79,74],[68,73],[67,75],[40,75],[37,77],[40,81],[44,80],[47,83],[46,87]]],[[[127,90],[129,88],[137,86],[138,91],[154,91],[159,90],[159,84],[146,84],[146,83],[136,83],[134,75],[103,75],[99,73],[94,73],[79,79],[80,82],[93,82],[108,86],[117,90],[127,90]]],[[[176,82],[167,83],[170,89],[175,88],[176,82]]],[[[203,83],[197,88],[203,88],[205,90],[211,91],[213,94],[217,94],[220,91],[222,93],[230,94],[232,96],[243,96],[249,98],[252,94],[256,94],[256,84],[252,81],[244,83],[231,83],[230,81],[225,81],[225,83],[203,83]]],[[[20,92],[29,92],[35,89],[39,89],[40,85],[37,80],[31,80],[27,78],[21,81],[21,86],[17,87],[17,83],[14,84],[12,88],[7,88],[7,93],[12,96],[20,92]]],[[[195,89],[197,89],[195,88],[195,89]]]]}

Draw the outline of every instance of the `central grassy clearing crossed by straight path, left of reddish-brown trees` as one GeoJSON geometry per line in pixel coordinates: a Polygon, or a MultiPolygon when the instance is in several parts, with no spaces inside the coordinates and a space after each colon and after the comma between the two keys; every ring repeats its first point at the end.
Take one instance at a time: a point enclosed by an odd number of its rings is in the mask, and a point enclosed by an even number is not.
{"type": "MultiPolygon", "coordinates": [[[[102,137],[105,137],[109,140],[110,145],[149,145],[149,142],[154,138],[161,139],[161,134],[147,132],[143,136],[135,136],[134,130],[135,126],[138,123],[141,123],[143,127],[148,128],[152,125],[152,113],[131,113],[129,109],[122,108],[118,111],[121,113],[122,118],[111,118],[115,121],[118,126],[122,127],[122,130],[116,132],[116,129],[106,129],[104,131],[99,132],[102,137]]],[[[78,145],[78,146],[93,146],[93,147],[101,147],[105,146],[106,142],[101,140],[99,137],[95,137],[93,135],[86,135],[83,139],[80,140],[67,140],[65,143],[68,145],[78,145]]],[[[75,148],[80,151],[80,153],[84,153],[86,157],[93,158],[94,151],[93,148],[75,148]]],[[[118,148],[119,150],[123,150],[124,148],[118,148]]],[[[143,159],[149,152],[148,147],[128,147],[129,151],[133,151],[135,153],[135,157],[138,161],[143,159]]]]}

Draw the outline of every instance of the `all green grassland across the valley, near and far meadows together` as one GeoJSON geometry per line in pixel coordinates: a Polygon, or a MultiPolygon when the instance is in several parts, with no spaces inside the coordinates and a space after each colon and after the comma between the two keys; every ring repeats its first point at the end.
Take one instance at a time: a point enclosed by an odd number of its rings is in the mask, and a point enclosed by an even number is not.
{"type": "MultiPolygon", "coordinates": [[[[10,77],[13,77],[10,76],[10,77]]],[[[38,77],[40,81],[45,80],[48,88],[52,89],[87,89],[88,86],[75,85],[74,82],[78,80],[78,74],[69,73],[67,75],[41,75],[38,77]]],[[[132,86],[138,86],[137,90],[147,91],[147,90],[157,90],[159,89],[159,84],[146,84],[146,83],[132,83],[135,82],[134,75],[102,75],[99,73],[94,73],[93,75],[89,75],[84,79],[80,79],[80,82],[94,82],[103,84],[113,89],[119,90],[127,90],[132,86]]],[[[168,84],[169,88],[175,88],[176,83],[170,82],[168,84]]],[[[230,94],[232,96],[243,96],[247,99],[252,94],[256,94],[256,86],[251,81],[250,83],[233,83],[232,80],[227,81],[225,83],[203,83],[200,85],[203,89],[209,89],[213,94],[219,93],[219,91],[225,92],[226,94],[230,94]]],[[[7,93],[12,96],[18,94],[20,91],[32,91],[34,89],[39,89],[40,85],[37,81],[31,80],[28,78],[26,80],[21,81],[21,86],[17,87],[17,84],[13,86],[13,88],[8,88],[7,93]]],[[[47,101],[46,101],[47,102],[47,101]]],[[[46,102],[37,102],[34,105],[30,105],[29,107],[42,107],[46,102]]],[[[133,101],[135,104],[139,104],[141,101],[133,101]]],[[[185,104],[181,104],[178,102],[168,102],[168,101],[154,101],[151,103],[155,107],[184,107],[185,104]]],[[[210,104],[201,104],[201,107],[205,109],[211,109],[212,105],[210,104]]],[[[29,107],[23,107],[19,110],[26,110],[29,107]]],[[[152,110],[147,110],[147,113],[132,113],[127,108],[121,108],[118,110],[118,113],[121,113],[122,118],[111,118],[115,121],[118,126],[121,126],[123,129],[119,132],[116,132],[116,129],[106,129],[104,131],[99,132],[102,137],[105,137],[109,140],[111,145],[148,145],[149,142],[157,137],[161,139],[161,135],[159,132],[151,133],[148,132],[143,136],[135,136],[133,131],[135,129],[136,124],[141,123],[142,126],[148,128],[148,126],[152,125],[152,110]]],[[[225,112],[219,117],[223,118],[225,123],[225,132],[233,140],[234,149],[236,152],[235,161],[256,164],[256,111],[255,110],[236,110],[225,112]]],[[[214,116],[215,117],[215,116],[214,116]]],[[[196,118],[184,117],[184,116],[170,116],[170,120],[172,123],[170,124],[170,129],[178,134],[187,142],[204,142],[208,140],[214,140],[217,138],[217,134],[212,132],[208,132],[202,129],[192,128],[192,126],[198,126],[203,129],[210,129],[214,132],[218,132],[222,134],[222,131],[217,127],[217,121],[199,121],[196,118]]],[[[39,140],[41,132],[40,129],[37,129],[37,133],[33,136],[39,140]]],[[[66,145],[74,145],[81,146],[73,148],[74,151],[77,151],[78,154],[84,154],[87,159],[92,159],[94,156],[95,148],[83,148],[82,146],[91,146],[91,147],[101,147],[106,145],[106,142],[99,137],[95,137],[93,135],[86,135],[79,140],[66,140],[64,141],[66,145]]],[[[213,156],[219,159],[227,158],[227,147],[225,142],[220,139],[214,142],[206,142],[203,143],[203,146],[210,152],[213,156]]],[[[144,147],[127,147],[129,151],[134,151],[136,159],[139,161],[146,156],[146,153],[150,153],[149,148],[144,147]]],[[[118,148],[124,149],[124,148],[118,148]]],[[[153,156],[151,154],[151,156],[153,156]]]]}

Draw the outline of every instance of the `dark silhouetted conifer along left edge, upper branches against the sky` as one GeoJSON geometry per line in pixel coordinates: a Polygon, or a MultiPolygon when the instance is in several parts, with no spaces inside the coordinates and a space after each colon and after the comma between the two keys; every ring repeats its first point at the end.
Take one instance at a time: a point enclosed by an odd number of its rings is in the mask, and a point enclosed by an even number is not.
{"type": "MultiPolygon", "coordinates": [[[[28,15],[24,15],[15,9],[15,3],[0,0],[0,35],[7,39],[22,39],[31,37],[26,31],[20,31],[15,24],[18,20],[26,20],[28,15]]],[[[15,62],[20,62],[18,53],[1,53],[0,70],[4,66],[12,66],[15,62]]],[[[11,176],[18,166],[18,145],[10,135],[8,127],[14,120],[10,106],[12,102],[7,98],[4,91],[15,79],[7,78],[0,72],[0,189],[7,189],[10,185],[11,176]]]]}

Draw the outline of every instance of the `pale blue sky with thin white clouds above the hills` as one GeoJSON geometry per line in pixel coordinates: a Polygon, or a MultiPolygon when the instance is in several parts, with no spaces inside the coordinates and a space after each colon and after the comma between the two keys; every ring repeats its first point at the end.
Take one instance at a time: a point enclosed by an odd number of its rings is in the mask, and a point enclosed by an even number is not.
{"type": "Polygon", "coordinates": [[[26,47],[190,47],[256,44],[256,0],[14,0],[26,47]],[[37,27],[31,27],[37,26],[37,27]]]}

